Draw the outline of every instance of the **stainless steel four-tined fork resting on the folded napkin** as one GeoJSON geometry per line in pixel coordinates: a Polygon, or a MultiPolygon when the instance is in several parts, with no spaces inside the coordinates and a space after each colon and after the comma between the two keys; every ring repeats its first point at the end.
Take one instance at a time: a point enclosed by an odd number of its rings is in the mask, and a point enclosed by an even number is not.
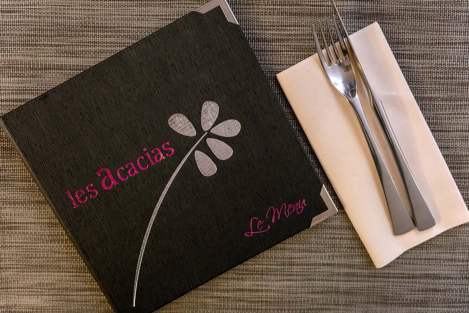
{"type": "Polygon", "coordinates": [[[371,156],[373,157],[373,161],[378,171],[379,179],[383,186],[387,206],[389,209],[389,215],[391,216],[394,235],[402,235],[413,229],[414,223],[412,222],[412,219],[410,218],[410,215],[408,214],[407,209],[404,203],[402,202],[401,196],[399,195],[399,192],[396,189],[396,185],[393,182],[393,178],[389,174],[389,170],[386,167],[383,157],[379,151],[376,140],[373,137],[373,134],[371,133],[370,125],[366,120],[362,104],[358,97],[354,69],[348,56],[347,46],[345,46],[344,39],[341,35],[335,17],[333,20],[335,31],[337,32],[339,38],[340,50],[342,52],[343,58],[340,58],[339,52],[337,51],[337,47],[335,46],[335,40],[333,38],[331,28],[329,26],[329,20],[326,19],[327,31],[329,33],[329,37],[331,38],[331,42],[333,43],[332,47],[334,58],[327,45],[327,41],[325,40],[321,22],[319,22],[319,30],[321,32],[321,36],[325,44],[325,51],[327,53],[329,63],[327,63],[325,60],[325,56],[322,52],[321,45],[319,44],[318,36],[316,35],[316,28],[313,26],[314,43],[316,45],[316,49],[318,50],[319,60],[321,61],[321,65],[331,84],[333,84],[335,89],[343,97],[345,97],[345,99],[347,99],[348,103],[350,104],[350,107],[352,107],[355,113],[360,127],[362,128],[363,135],[365,136],[365,139],[370,148],[371,156]]]}

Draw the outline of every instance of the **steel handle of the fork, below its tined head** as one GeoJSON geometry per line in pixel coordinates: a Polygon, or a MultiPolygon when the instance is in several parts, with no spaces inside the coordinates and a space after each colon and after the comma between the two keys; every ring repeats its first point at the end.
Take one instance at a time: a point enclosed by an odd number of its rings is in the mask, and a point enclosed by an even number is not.
{"type": "Polygon", "coordinates": [[[389,215],[391,216],[391,223],[393,224],[394,235],[402,235],[412,230],[415,226],[407,212],[407,209],[402,202],[401,196],[397,191],[396,185],[394,184],[393,178],[389,174],[389,170],[383,160],[383,156],[379,152],[378,145],[376,143],[373,134],[371,133],[370,125],[366,120],[365,113],[363,112],[362,104],[358,95],[354,98],[347,98],[350,106],[352,107],[355,116],[360,123],[363,135],[365,136],[368,147],[370,148],[371,156],[375,163],[378,171],[378,176],[383,186],[383,191],[386,197],[387,206],[389,209],[389,215]]]}

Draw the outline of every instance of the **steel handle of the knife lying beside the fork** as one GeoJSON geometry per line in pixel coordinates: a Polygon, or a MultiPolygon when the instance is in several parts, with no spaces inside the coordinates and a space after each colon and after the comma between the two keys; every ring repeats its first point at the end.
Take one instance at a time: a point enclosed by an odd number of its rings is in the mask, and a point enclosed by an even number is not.
{"type": "Polygon", "coordinates": [[[408,163],[404,157],[404,153],[402,153],[401,147],[399,146],[399,143],[394,136],[393,129],[389,123],[381,100],[379,100],[378,96],[373,91],[371,91],[371,96],[375,115],[378,118],[381,129],[385,134],[387,143],[393,152],[396,165],[401,172],[402,180],[404,181],[404,186],[406,187],[410,204],[412,206],[412,212],[414,213],[414,220],[417,229],[420,231],[429,229],[435,226],[435,219],[433,214],[431,214],[430,208],[425,202],[425,198],[418,188],[415,178],[410,171],[408,163]]]}

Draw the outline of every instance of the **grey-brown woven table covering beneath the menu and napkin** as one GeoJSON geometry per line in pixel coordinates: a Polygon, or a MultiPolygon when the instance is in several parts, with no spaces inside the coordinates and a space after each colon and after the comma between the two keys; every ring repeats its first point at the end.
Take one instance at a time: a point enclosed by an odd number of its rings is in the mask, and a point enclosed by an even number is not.
{"type": "MultiPolygon", "coordinates": [[[[328,190],[275,74],[313,53],[327,0],[231,0],[254,53],[328,190]]],[[[188,13],[204,0],[0,0],[0,114],[188,13]]],[[[378,21],[469,201],[469,2],[340,1],[350,32],[378,21]]],[[[325,108],[327,109],[327,108],[325,108]]],[[[111,312],[0,132],[0,311],[111,312]]],[[[339,205],[333,194],[334,201],[339,205]]],[[[347,215],[278,244],[161,312],[468,312],[469,225],[373,267],[347,215]]]]}

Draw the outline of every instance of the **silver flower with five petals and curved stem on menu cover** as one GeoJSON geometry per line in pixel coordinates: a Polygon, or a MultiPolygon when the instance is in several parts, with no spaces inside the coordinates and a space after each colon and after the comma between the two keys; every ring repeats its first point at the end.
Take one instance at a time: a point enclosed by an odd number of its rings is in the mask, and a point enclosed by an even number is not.
{"type": "MultiPolygon", "coordinates": [[[[218,117],[219,108],[218,105],[213,101],[205,101],[202,105],[202,113],[200,117],[200,122],[202,124],[202,129],[204,130],[204,135],[200,137],[197,142],[192,146],[186,156],[182,159],[181,163],[179,163],[178,167],[174,171],[173,175],[169,179],[168,183],[166,184],[165,189],[161,193],[159,197],[158,203],[153,210],[153,214],[151,214],[150,222],[148,223],[147,230],[145,232],[144,240],[142,243],[142,248],[140,249],[140,255],[138,256],[137,262],[137,269],[135,275],[135,283],[134,283],[134,298],[133,298],[133,306],[135,306],[135,297],[137,292],[137,282],[138,282],[138,274],[140,272],[140,265],[142,264],[142,258],[145,251],[145,245],[148,240],[148,236],[150,235],[151,226],[153,225],[153,221],[155,220],[156,214],[158,213],[158,209],[163,202],[163,199],[166,196],[166,192],[168,191],[171,183],[174,180],[174,177],[177,175],[179,170],[184,165],[184,162],[187,160],[189,155],[194,151],[197,145],[204,139],[207,134],[212,133],[221,137],[234,137],[236,136],[241,130],[240,122],[236,120],[227,120],[225,122],[219,123],[217,126],[213,127],[213,123],[218,117]],[[212,129],[211,129],[212,128],[212,129]]],[[[169,126],[180,133],[181,135],[194,137],[196,136],[196,129],[192,125],[192,123],[187,119],[186,116],[182,115],[181,113],[177,113],[171,115],[168,120],[169,126]]],[[[233,155],[233,149],[223,141],[216,139],[216,138],[207,138],[207,145],[209,146],[210,150],[212,150],[213,154],[220,160],[227,160],[229,157],[233,155]]],[[[204,176],[212,176],[217,171],[217,166],[212,161],[212,159],[203,153],[202,151],[196,150],[194,152],[194,157],[196,159],[197,167],[199,168],[200,172],[204,176]]]]}

